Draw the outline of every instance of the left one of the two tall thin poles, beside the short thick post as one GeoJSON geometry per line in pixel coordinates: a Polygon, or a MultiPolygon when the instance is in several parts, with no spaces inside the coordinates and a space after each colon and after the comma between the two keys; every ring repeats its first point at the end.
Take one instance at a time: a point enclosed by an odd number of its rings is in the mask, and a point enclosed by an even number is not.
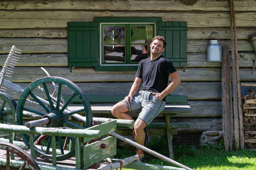
{"type": "Polygon", "coordinates": [[[238,105],[237,105],[237,77],[236,77],[236,62],[234,53],[234,37],[233,37],[233,4],[230,0],[230,41],[231,41],[231,55],[232,55],[232,75],[233,75],[233,112],[234,112],[234,136],[236,150],[239,150],[239,121],[238,121],[238,105]]]}

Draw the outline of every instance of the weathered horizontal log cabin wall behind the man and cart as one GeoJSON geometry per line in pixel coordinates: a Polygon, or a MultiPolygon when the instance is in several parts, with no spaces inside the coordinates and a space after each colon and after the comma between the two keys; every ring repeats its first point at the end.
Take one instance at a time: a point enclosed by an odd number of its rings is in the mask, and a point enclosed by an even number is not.
{"type": "MultiPolygon", "coordinates": [[[[198,0],[192,6],[181,0],[0,1],[0,65],[15,45],[22,55],[8,80],[23,88],[45,77],[40,69],[44,67],[52,76],[75,82],[86,95],[126,95],[134,71],[74,68],[70,73],[67,22],[92,22],[94,17],[162,17],[163,22],[187,22],[187,67],[185,72],[176,68],[182,83],[171,94],[188,96],[192,112],[179,114],[173,121],[190,124],[180,132],[222,130],[221,63],[207,62],[207,46],[215,31],[220,44],[230,47],[229,4],[229,0],[198,0]]],[[[236,0],[235,13],[240,80],[256,81],[256,71],[251,74],[256,55],[248,40],[256,34],[256,1],[236,0]]],[[[248,94],[248,89],[241,87],[242,95],[248,94]]],[[[7,93],[19,99],[20,94],[9,89],[7,93]]]]}

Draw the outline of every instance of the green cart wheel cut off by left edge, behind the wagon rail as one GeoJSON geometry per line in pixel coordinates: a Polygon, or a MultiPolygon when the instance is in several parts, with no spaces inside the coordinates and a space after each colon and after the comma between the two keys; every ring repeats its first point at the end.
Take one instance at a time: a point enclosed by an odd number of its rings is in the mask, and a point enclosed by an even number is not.
{"type": "MultiPolygon", "coordinates": [[[[15,124],[16,102],[13,98],[4,92],[0,92],[0,123],[1,124],[15,124]]],[[[4,136],[8,132],[0,131],[0,136],[4,136]]]]}

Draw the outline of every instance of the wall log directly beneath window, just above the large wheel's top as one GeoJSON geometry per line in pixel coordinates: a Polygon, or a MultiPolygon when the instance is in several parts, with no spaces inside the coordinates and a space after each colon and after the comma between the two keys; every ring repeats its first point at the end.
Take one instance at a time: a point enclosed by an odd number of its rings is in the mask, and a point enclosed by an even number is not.
{"type": "MultiPolygon", "coordinates": [[[[93,68],[45,68],[51,76],[64,77],[73,82],[133,82],[135,71],[94,71],[93,68]]],[[[176,68],[181,81],[221,81],[221,68],[176,68]]],[[[232,69],[231,69],[232,71],[232,69]]],[[[240,68],[241,81],[256,81],[252,69],[240,68]]],[[[14,69],[11,78],[13,83],[32,82],[47,75],[39,67],[19,67],[14,69]]],[[[171,81],[171,79],[169,79],[171,81]]],[[[186,96],[186,95],[185,95],[186,96]]]]}

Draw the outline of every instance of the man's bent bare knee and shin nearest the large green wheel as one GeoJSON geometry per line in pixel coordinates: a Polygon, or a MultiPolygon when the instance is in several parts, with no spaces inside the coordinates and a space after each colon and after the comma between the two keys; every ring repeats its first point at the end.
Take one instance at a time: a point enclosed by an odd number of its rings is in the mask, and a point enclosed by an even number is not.
{"type": "Polygon", "coordinates": [[[118,102],[112,107],[111,113],[117,119],[133,120],[132,117],[126,113],[128,111],[129,110],[124,102],[118,102]]]}

